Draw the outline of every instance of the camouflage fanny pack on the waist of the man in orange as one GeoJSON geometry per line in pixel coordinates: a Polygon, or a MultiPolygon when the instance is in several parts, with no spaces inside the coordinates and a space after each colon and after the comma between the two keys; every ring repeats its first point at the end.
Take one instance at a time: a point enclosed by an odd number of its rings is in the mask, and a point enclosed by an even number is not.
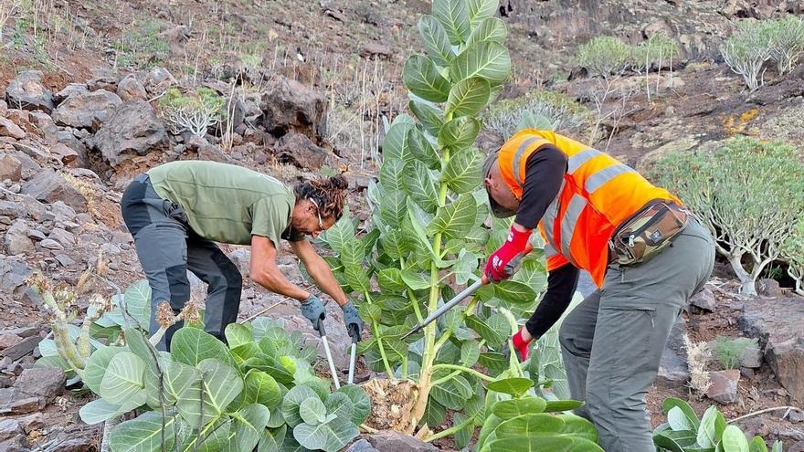
{"type": "Polygon", "coordinates": [[[612,262],[621,266],[653,258],[684,230],[690,213],[673,203],[656,202],[620,226],[608,245],[612,262]]]}

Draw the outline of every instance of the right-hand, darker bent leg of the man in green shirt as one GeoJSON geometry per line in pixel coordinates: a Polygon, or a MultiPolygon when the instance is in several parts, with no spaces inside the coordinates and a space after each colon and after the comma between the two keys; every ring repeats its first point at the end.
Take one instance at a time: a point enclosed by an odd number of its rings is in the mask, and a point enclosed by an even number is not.
{"type": "Polygon", "coordinates": [[[238,320],[243,277],[215,243],[193,236],[187,240],[187,268],[208,285],[205,331],[226,342],[229,323],[238,320]]]}

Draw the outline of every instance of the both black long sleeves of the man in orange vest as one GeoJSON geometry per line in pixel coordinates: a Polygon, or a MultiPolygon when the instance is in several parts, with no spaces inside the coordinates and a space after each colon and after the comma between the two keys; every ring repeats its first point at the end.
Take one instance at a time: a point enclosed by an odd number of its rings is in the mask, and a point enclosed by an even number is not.
{"type": "MultiPolygon", "coordinates": [[[[522,200],[516,211],[516,223],[535,229],[553,202],[566,173],[566,155],[552,144],[545,144],[528,158],[522,200]]],[[[578,269],[572,264],[555,268],[547,276],[547,291],[525,324],[535,339],[552,327],[569,306],[575,293],[578,269]]]]}

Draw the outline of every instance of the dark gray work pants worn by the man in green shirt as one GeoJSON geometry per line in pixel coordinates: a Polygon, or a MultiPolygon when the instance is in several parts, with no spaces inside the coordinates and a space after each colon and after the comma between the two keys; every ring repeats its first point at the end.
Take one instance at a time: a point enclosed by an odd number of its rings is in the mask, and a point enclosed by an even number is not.
{"type": "MultiPolygon", "coordinates": [[[[154,315],[157,306],[167,301],[177,314],[190,300],[190,270],[208,286],[204,330],[226,342],[227,325],[238,319],[243,287],[238,267],[214,242],[193,231],[180,205],[156,194],[147,174],[137,176],[126,188],[121,209],[151,286],[151,333],[159,329],[154,315]]],[[[169,328],[157,349],[169,350],[182,324],[169,328]]]]}

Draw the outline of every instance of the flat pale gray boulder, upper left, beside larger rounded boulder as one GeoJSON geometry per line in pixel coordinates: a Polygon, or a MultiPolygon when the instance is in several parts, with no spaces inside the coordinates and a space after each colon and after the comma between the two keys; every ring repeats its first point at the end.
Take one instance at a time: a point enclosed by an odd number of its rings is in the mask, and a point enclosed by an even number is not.
{"type": "Polygon", "coordinates": [[[120,104],[120,97],[106,89],[74,94],[58,105],[53,121],[60,126],[98,131],[120,104]]]}

